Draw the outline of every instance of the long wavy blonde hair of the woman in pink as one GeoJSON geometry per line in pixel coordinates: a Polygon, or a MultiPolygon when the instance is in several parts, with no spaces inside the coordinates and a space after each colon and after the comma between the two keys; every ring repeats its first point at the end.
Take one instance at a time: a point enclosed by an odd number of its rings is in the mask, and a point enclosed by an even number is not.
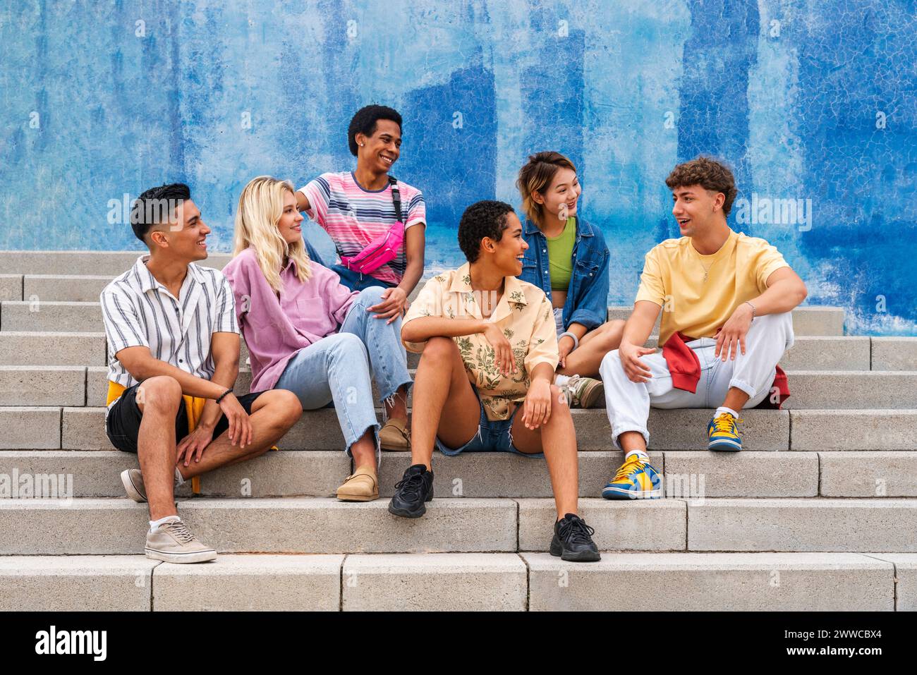
{"type": "Polygon", "coordinates": [[[300,239],[287,244],[277,224],[283,215],[283,194],[295,196],[293,185],[272,176],[252,179],[238,197],[236,231],[233,257],[245,249],[255,251],[261,273],[267,279],[274,293],[281,292],[281,267],[283,258],[296,262],[296,274],[300,282],[312,276],[311,261],[305,252],[305,243],[300,239]]]}

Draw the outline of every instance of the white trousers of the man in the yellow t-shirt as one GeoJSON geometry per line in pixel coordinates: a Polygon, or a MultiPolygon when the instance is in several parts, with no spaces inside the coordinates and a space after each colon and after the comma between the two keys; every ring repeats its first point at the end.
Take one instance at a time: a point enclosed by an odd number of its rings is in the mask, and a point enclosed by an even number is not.
{"type": "Polygon", "coordinates": [[[700,338],[688,343],[701,361],[701,379],[695,393],[675,389],[662,350],[641,357],[653,376],[649,382],[631,382],[618,350],[602,359],[599,372],[605,385],[605,405],[612,426],[614,446],[621,449],[618,437],[625,431],[639,431],[649,444],[646,420],[649,408],[716,408],[723,405],[726,393],[737,387],[749,396],[746,408],[761,403],[770,393],[775,368],[783,352],[793,346],[793,321],[790,312],[757,316],[746,335],[746,353],[741,349],[735,360],[713,356],[716,340],[700,338]]]}

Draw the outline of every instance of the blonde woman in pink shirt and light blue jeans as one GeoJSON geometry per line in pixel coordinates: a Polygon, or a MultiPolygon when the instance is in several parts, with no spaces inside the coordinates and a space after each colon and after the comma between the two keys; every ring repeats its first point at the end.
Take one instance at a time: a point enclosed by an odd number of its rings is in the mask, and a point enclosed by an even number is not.
{"type": "Polygon", "coordinates": [[[342,501],[379,497],[379,423],[371,376],[384,398],[411,385],[401,317],[378,321],[370,307],[381,287],[351,292],[337,274],[309,260],[293,185],[259,176],[238,200],[235,251],[223,273],[236,297],[249,346],[251,389],[295,393],[305,410],[334,402],[353,457],[353,475],[337,489],[342,501]]]}

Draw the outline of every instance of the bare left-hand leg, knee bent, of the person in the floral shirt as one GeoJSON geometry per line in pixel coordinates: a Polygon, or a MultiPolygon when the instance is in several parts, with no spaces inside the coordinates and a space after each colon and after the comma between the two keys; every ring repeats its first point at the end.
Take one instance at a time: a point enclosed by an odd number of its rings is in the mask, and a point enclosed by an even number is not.
{"type": "Polygon", "coordinates": [[[481,404],[452,338],[427,341],[414,376],[413,413],[411,463],[424,464],[427,469],[437,434],[448,447],[458,448],[478,433],[481,404]]]}

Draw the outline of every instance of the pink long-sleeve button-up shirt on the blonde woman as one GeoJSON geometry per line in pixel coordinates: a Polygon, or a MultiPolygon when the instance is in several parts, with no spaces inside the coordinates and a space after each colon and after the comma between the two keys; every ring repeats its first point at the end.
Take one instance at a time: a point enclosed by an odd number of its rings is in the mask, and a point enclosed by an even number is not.
{"type": "Polygon", "coordinates": [[[253,249],[245,249],[223,268],[249,346],[252,392],[273,389],[297,351],[337,333],[359,294],[342,286],[335,272],[315,261],[310,264],[312,277],[303,283],[290,260],[281,271],[279,299],[261,273],[253,249]]]}

